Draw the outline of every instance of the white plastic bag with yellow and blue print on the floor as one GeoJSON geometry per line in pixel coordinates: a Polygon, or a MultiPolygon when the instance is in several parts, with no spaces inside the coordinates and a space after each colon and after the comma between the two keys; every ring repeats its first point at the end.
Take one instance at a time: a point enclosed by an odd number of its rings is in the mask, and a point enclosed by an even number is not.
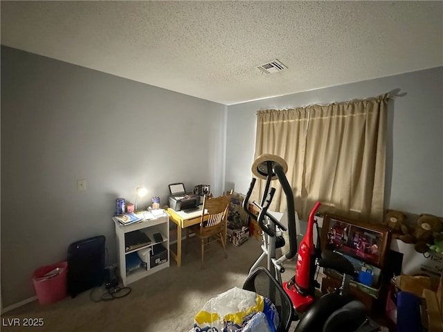
{"type": "Polygon", "coordinates": [[[248,327],[246,331],[275,332],[279,318],[274,304],[262,295],[234,287],[206,302],[201,311],[195,315],[192,331],[244,331],[243,328],[246,329],[247,323],[257,313],[264,314],[266,324],[260,315],[261,317],[255,318],[250,325],[255,326],[257,330],[248,327]]]}

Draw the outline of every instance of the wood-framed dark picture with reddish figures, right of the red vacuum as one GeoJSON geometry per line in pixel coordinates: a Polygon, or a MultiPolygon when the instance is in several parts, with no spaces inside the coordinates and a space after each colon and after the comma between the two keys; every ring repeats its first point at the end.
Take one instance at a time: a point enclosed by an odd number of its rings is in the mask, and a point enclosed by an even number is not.
{"type": "Polygon", "coordinates": [[[383,268],[391,232],[383,225],[352,221],[326,214],[321,232],[321,249],[334,250],[383,268]]]}

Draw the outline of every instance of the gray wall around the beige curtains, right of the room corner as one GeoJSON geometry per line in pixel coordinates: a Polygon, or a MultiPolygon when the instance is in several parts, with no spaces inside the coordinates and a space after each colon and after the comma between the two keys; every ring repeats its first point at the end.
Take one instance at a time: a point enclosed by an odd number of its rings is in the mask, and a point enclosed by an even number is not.
{"type": "Polygon", "coordinates": [[[443,67],[228,107],[226,186],[246,193],[255,149],[255,113],[375,97],[388,103],[386,208],[443,216],[443,67]]]}

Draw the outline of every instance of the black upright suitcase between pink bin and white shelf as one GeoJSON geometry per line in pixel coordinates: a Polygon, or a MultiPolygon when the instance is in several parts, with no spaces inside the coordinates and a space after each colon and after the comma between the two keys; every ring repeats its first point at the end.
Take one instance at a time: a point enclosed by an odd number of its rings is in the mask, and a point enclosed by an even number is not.
{"type": "Polygon", "coordinates": [[[68,248],[67,290],[71,297],[105,281],[105,236],[71,243],[68,248]]]}

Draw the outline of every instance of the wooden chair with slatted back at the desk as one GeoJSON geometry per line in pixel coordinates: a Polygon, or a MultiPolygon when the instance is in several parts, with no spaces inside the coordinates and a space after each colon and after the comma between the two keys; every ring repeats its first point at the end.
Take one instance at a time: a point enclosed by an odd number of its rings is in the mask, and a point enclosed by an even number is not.
{"type": "MultiPolygon", "coordinates": [[[[223,246],[224,258],[228,257],[226,253],[226,223],[230,196],[219,196],[203,199],[203,211],[199,224],[186,228],[186,240],[190,233],[194,233],[201,241],[201,269],[204,268],[204,250],[205,246],[215,241],[221,241],[223,246]]],[[[188,241],[186,241],[188,242],[188,241]]]]}

